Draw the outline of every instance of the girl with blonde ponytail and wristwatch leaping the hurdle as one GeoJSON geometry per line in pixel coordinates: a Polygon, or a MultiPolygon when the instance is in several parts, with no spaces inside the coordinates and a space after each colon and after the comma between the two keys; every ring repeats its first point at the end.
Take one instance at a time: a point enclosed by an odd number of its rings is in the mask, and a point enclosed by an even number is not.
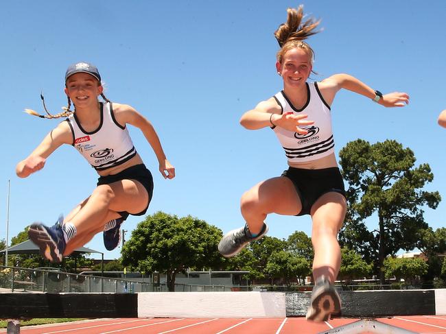
{"type": "Polygon", "coordinates": [[[337,235],[344,221],[344,183],[336,162],[331,128],[331,104],[344,88],[385,107],[402,107],[406,93],[382,95],[348,74],[335,74],[320,82],[307,82],[313,71],[314,51],[306,40],[318,33],[320,21],[304,20],[303,7],[287,10],[287,21],[274,36],[279,43],[276,69],[283,90],[248,110],[240,123],[248,130],[270,128],[287,157],[281,176],[259,182],[242,195],[242,228],[228,232],[219,244],[224,257],[233,257],[251,241],[266,235],[270,213],[310,215],[314,246],[315,287],[307,319],[326,321],[340,312],[333,282],[340,268],[337,235]]]}

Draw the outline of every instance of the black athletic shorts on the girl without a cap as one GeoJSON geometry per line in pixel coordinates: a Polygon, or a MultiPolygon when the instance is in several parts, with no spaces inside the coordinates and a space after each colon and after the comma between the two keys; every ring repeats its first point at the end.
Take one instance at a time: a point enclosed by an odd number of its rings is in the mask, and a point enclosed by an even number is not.
{"type": "Polygon", "coordinates": [[[338,167],[323,169],[301,169],[290,167],[282,176],[289,178],[302,202],[298,216],[309,215],[312,206],[320,196],[334,191],[345,197],[344,180],[338,167]]]}

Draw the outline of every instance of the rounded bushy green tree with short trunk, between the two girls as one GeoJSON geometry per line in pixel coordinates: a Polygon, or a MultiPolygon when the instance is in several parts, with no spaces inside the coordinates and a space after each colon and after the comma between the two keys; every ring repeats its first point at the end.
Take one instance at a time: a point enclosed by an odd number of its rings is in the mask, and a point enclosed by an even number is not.
{"type": "Polygon", "coordinates": [[[121,250],[121,261],[139,272],[165,272],[174,291],[175,276],[188,267],[220,267],[218,242],[222,231],[204,220],[178,218],[161,211],[149,215],[132,231],[121,250]]]}

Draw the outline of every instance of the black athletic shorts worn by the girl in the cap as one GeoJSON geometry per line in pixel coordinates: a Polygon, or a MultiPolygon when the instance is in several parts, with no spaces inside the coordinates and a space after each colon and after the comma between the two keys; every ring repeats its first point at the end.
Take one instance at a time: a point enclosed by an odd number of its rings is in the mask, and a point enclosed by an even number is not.
{"type": "Polygon", "coordinates": [[[97,185],[99,186],[101,184],[110,184],[120,180],[137,180],[138,182],[140,182],[149,194],[149,201],[145,209],[140,213],[128,213],[127,211],[120,211],[119,214],[121,215],[121,217],[124,218],[124,220],[127,219],[128,215],[134,215],[134,216],[143,215],[149,207],[150,200],[152,200],[152,194],[153,194],[153,178],[152,174],[150,173],[150,170],[148,170],[143,164],[134,165],[132,167],[124,169],[124,171],[121,171],[118,174],[99,176],[99,178],[97,179],[97,185]]]}

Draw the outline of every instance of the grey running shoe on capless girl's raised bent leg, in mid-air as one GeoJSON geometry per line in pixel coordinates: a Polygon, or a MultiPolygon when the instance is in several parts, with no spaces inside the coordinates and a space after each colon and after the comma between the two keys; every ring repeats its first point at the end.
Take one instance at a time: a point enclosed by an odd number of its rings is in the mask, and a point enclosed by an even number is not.
{"type": "Polygon", "coordinates": [[[220,243],[218,243],[218,251],[224,257],[233,257],[240,252],[244,246],[248,245],[248,243],[259,240],[263,235],[266,235],[266,232],[268,232],[268,225],[265,223],[263,223],[263,228],[255,237],[251,236],[247,225],[242,228],[237,228],[236,230],[231,230],[226,233],[226,235],[222,237],[222,240],[220,240],[220,243]]]}

